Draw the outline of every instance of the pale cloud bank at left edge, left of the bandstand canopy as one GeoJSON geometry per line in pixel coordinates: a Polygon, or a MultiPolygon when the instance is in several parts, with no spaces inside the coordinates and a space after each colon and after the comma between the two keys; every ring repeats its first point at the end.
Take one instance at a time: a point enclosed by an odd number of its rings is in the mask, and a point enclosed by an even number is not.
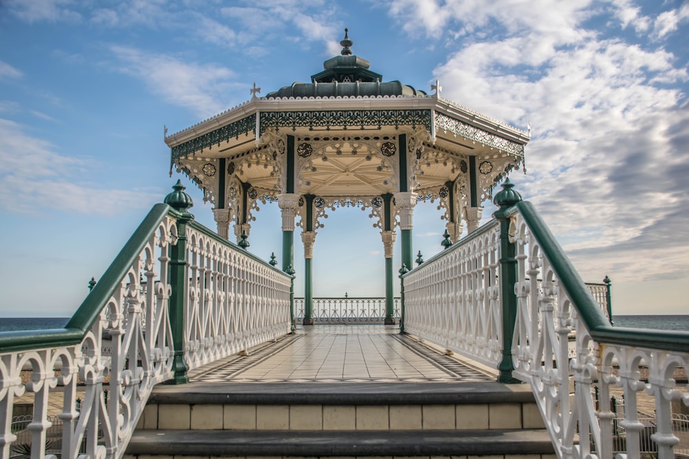
{"type": "Polygon", "coordinates": [[[0,118],[0,206],[15,213],[48,209],[112,216],[141,209],[160,197],[138,191],[102,189],[76,180],[88,175],[90,160],[63,156],[55,146],[25,134],[21,125],[0,118]]]}

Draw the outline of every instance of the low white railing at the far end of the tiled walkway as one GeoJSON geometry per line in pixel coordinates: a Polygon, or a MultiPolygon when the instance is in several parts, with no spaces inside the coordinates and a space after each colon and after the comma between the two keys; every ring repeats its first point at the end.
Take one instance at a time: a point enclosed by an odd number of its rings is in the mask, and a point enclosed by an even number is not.
{"type": "MultiPolygon", "coordinates": [[[[295,318],[297,323],[304,319],[304,299],[294,299],[295,318]]],[[[400,298],[394,298],[393,318],[400,321],[400,298]]],[[[353,325],[383,323],[385,321],[385,299],[382,297],[344,297],[313,298],[313,323],[335,324],[350,323],[353,325]]]]}

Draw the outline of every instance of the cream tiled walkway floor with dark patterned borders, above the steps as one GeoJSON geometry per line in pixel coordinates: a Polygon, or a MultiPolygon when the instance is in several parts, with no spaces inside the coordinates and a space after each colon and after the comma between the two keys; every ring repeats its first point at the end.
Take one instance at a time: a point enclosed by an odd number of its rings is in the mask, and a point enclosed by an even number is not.
{"type": "Polygon", "coordinates": [[[299,327],[296,334],[246,358],[200,370],[191,375],[192,381],[495,380],[400,335],[396,325],[299,327]]]}

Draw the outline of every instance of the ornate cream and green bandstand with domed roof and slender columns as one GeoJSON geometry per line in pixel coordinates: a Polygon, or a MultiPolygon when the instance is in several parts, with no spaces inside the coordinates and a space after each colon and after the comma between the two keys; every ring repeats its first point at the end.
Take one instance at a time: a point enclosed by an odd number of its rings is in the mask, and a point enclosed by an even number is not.
{"type": "Polygon", "coordinates": [[[252,212],[277,202],[282,213],[282,270],[294,264],[295,225],[305,257],[305,325],[313,324],[313,244],[328,211],[370,209],[380,228],[386,279],[385,323],[393,318],[393,244],[400,231],[402,263],[413,263],[418,202],[439,202],[446,237],[475,231],[493,186],[524,165],[529,135],[440,95],[400,81],[383,82],[354,56],[345,29],[340,56],[323,63],[310,83],[292,83],[165,137],[172,167],[214,206],[218,235],[229,226],[240,246],[252,212]],[[296,217],[300,219],[296,222],[296,217]]]}

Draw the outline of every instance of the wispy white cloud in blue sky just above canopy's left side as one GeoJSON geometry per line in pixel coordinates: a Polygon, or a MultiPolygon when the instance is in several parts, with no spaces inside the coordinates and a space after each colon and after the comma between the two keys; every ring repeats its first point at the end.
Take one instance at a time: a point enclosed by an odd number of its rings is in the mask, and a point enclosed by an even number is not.
{"type": "Polygon", "coordinates": [[[192,109],[204,118],[229,108],[225,94],[234,73],[227,67],[189,63],[131,47],[110,49],[122,63],[121,72],[141,78],[168,103],[192,109]]]}

